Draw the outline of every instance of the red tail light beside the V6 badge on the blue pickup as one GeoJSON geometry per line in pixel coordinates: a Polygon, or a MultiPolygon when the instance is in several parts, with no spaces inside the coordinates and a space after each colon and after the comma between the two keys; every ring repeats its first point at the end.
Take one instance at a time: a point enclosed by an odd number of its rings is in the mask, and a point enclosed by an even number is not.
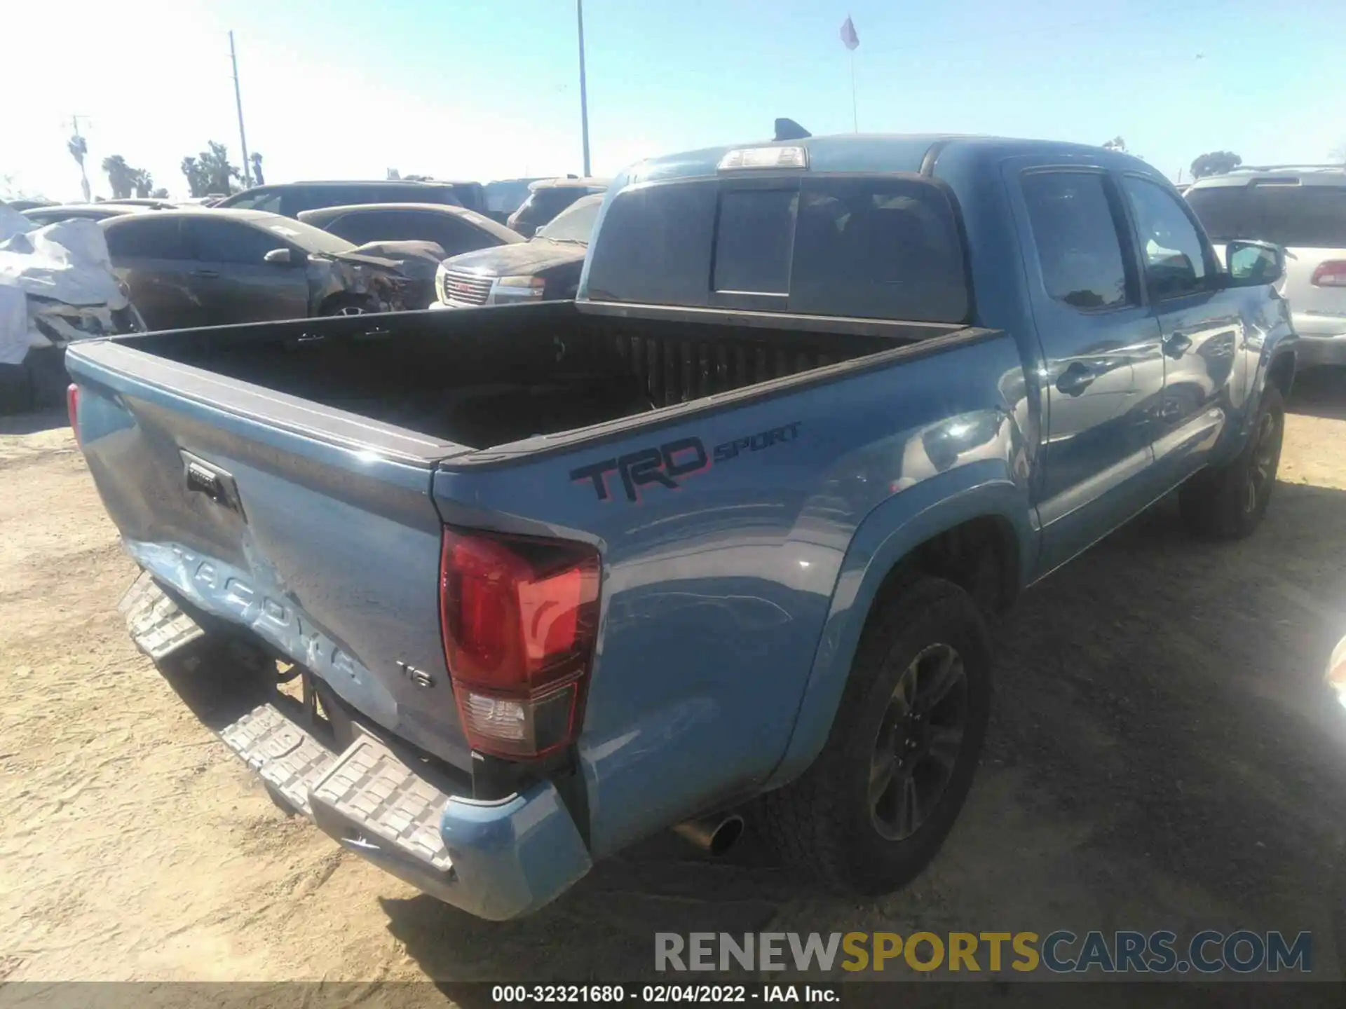
{"type": "Polygon", "coordinates": [[[472,749],[534,757],[579,733],[599,573],[584,544],[444,530],[444,659],[472,749]]]}

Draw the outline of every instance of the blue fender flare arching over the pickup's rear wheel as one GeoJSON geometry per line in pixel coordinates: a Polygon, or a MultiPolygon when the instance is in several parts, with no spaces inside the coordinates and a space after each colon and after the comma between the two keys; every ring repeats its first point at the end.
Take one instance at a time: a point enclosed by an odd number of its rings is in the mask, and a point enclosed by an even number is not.
{"type": "Polygon", "coordinates": [[[895,494],[864,518],[841,562],[790,741],[767,790],[808,770],[826,743],[860,634],[888,573],[925,541],[977,518],[1001,518],[1014,529],[1022,588],[1035,562],[1038,533],[1027,491],[1003,461],[950,470],[895,494]]]}

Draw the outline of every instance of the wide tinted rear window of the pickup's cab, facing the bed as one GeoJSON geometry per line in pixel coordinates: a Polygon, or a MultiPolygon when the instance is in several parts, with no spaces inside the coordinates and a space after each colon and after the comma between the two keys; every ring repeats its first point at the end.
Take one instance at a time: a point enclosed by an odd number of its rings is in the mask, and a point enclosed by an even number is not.
{"type": "Polygon", "coordinates": [[[962,323],[954,207],[917,175],[697,179],[616,194],[595,300],[962,323]]]}

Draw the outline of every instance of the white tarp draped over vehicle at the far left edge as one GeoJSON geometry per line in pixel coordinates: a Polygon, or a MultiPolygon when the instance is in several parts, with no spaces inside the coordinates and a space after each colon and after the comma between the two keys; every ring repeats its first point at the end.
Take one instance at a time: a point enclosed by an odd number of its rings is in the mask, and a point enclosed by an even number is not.
{"type": "Polygon", "coordinates": [[[0,365],[20,365],[30,347],[51,346],[30,317],[30,295],[67,305],[125,308],[102,229],[93,221],[34,229],[23,214],[0,207],[0,365]],[[15,308],[20,300],[22,323],[15,308]]]}

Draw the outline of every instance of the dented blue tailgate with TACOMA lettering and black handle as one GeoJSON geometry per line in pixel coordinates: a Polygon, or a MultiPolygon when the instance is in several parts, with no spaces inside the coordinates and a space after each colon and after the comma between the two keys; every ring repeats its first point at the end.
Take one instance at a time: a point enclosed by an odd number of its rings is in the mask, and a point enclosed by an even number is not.
{"type": "Polygon", "coordinates": [[[367,718],[468,767],[439,628],[437,460],[460,445],[117,342],[67,355],[127,550],[367,718]]]}

